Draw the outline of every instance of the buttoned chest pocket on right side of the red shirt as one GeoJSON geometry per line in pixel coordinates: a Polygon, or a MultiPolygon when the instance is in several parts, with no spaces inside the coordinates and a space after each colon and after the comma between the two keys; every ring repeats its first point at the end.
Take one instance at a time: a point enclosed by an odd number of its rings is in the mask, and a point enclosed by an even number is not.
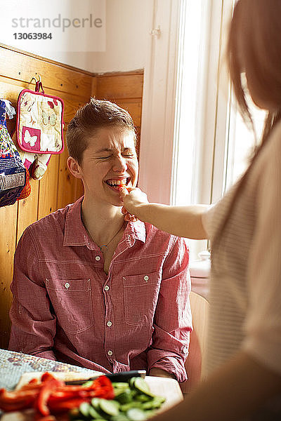
{"type": "Polygon", "coordinates": [[[124,313],[127,324],[152,326],[160,284],[159,272],[123,277],[124,313]]]}

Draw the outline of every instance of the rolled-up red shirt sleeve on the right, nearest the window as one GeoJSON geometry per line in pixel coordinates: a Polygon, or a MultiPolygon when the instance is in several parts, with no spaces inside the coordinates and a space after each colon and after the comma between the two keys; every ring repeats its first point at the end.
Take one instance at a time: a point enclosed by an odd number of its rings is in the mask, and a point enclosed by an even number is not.
{"type": "Polygon", "coordinates": [[[175,238],[163,266],[152,345],[148,349],[148,370],[161,368],[183,382],[187,378],[184,363],[192,330],[191,287],[189,252],[185,240],[175,238]]]}

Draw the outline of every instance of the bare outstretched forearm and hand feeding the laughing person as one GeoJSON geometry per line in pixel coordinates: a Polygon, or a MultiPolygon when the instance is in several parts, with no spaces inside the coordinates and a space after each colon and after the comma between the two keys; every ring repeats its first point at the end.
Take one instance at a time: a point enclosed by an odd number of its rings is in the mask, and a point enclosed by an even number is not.
{"type": "Polygon", "coordinates": [[[120,194],[124,208],[138,219],[176,236],[197,240],[208,238],[202,225],[202,215],[208,205],[166,206],[149,203],[146,194],[138,188],[123,188],[120,194]]]}

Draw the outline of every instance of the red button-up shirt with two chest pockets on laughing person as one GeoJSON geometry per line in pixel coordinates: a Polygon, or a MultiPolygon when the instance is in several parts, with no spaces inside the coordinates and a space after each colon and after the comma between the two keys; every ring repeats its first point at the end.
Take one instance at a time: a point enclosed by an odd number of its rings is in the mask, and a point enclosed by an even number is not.
{"type": "Polygon", "coordinates": [[[192,329],[185,241],[129,222],[107,275],[82,199],[22,234],[9,349],[105,373],[162,368],[183,382],[192,329]]]}

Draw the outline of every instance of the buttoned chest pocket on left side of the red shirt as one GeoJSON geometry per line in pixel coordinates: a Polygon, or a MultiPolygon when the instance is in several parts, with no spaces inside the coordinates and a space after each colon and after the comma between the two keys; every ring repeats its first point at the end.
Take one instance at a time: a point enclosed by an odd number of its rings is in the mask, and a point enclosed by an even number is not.
{"type": "Polygon", "coordinates": [[[90,279],[46,279],[46,289],[58,323],[77,334],[93,326],[90,279]]]}

